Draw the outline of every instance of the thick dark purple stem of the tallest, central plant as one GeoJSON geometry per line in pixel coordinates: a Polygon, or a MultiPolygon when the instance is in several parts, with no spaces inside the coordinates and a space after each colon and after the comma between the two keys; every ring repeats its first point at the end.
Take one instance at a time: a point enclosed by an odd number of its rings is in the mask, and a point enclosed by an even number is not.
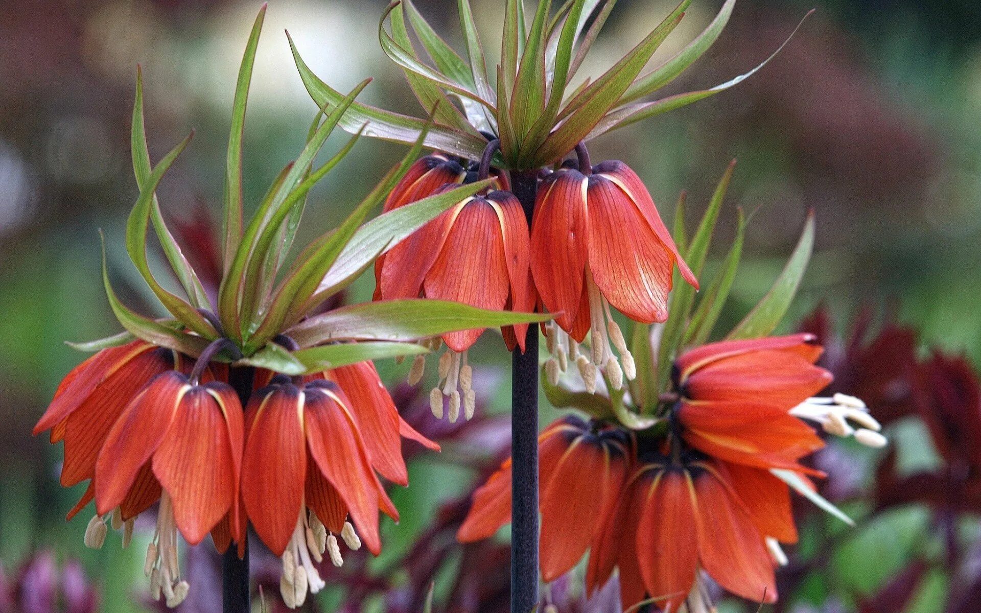
{"type": "MultiPolygon", "coordinates": [[[[538,173],[511,176],[529,227],[538,173]]],[[[525,351],[511,356],[511,613],[539,603],[539,329],[528,327],[525,351]]]]}

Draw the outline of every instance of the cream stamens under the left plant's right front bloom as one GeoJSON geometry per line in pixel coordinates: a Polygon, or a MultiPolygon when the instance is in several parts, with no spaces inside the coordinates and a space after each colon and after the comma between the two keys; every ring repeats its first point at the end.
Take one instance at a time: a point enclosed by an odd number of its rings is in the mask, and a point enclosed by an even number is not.
{"type": "MultiPolygon", "coordinates": [[[[340,532],[344,543],[351,549],[361,546],[361,540],[354,533],[354,527],[344,522],[340,532]]],[[[314,562],[324,560],[324,554],[331,563],[340,567],[344,559],[340,555],[337,537],[331,534],[313,510],[302,506],[296,520],[293,536],[283,552],[283,576],[280,578],[280,593],[290,609],[303,606],[307,593],[317,593],[327,584],[320,577],[314,562]]]]}

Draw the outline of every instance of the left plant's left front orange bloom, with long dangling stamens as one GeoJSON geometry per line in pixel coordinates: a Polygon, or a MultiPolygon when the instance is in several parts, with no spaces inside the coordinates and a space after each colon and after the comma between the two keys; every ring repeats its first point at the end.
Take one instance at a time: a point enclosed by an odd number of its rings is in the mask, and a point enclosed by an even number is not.
{"type": "Polygon", "coordinates": [[[194,374],[170,371],[139,391],[102,445],[96,517],[118,513],[125,522],[160,500],[144,572],[154,597],[162,591],[168,606],[180,604],[188,590],[178,566],[179,531],[197,544],[227,519],[231,534],[243,540],[242,439],[242,407],[228,383],[199,383],[194,374]]]}

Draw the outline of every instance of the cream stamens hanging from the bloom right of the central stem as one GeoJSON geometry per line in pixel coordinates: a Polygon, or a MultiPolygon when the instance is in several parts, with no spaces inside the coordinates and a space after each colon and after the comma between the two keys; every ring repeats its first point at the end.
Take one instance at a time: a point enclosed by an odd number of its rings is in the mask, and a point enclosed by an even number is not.
{"type": "Polygon", "coordinates": [[[634,355],[627,348],[623,332],[613,320],[609,302],[599,292],[592,276],[587,273],[587,295],[590,300],[590,350],[588,355],[580,351],[580,345],[569,334],[563,332],[555,324],[547,328],[546,343],[551,357],[545,362],[545,377],[555,385],[561,374],[573,362],[579,370],[579,376],[590,393],[596,391],[596,377],[599,373],[606,376],[614,389],[623,387],[624,377],[633,381],[637,377],[637,365],[634,355]],[[616,349],[616,354],[613,353],[616,349]],[[617,357],[619,355],[619,358],[617,357]]]}

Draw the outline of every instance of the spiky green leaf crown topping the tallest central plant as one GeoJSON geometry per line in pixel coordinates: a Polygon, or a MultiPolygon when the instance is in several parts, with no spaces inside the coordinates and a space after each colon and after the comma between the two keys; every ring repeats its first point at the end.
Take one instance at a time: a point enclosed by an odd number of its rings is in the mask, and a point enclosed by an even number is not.
{"type": "MultiPolygon", "coordinates": [[[[726,0],[694,40],[645,73],[650,58],[691,3],[683,0],[606,73],[575,87],[573,77],[615,0],[568,0],[554,15],[551,0],[540,0],[531,26],[525,20],[524,3],[506,0],[501,63],[496,67],[489,67],[469,0],[458,0],[465,54],[447,45],[410,0],[388,5],[379,23],[379,41],[423,107],[436,109],[434,125],[424,137],[426,146],[476,160],[488,143],[481,132],[490,133],[500,140],[494,166],[527,171],[560,161],[581,141],[728,89],[769,61],[708,89],[644,100],[708,50],[728,23],[736,0],[726,0]],[[410,33],[428,60],[416,49],[410,33]]],[[[318,106],[328,112],[339,108],[343,95],[307,68],[295,46],[293,57],[318,106]]],[[[339,125],[356,131],[365,123],[369,123],[366,135],[404,143],[414,142],[425,127],[421,120],[357,102],[344,112],[339,125]]]]}

